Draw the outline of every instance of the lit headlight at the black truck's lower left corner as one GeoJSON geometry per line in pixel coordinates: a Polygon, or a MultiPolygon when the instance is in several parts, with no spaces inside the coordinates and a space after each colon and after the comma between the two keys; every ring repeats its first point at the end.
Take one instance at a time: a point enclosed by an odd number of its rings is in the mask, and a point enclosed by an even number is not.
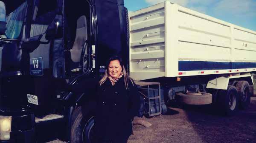
{"type": "Polygon", "coordinates": [[[11,116],[0,116],[0,140],[10,140],[11,116]]]}

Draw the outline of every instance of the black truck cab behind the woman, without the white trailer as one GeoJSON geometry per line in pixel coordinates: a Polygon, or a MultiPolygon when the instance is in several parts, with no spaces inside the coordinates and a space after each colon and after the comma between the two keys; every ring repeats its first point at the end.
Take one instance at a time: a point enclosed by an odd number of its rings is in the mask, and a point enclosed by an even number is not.
{"type": "Polygon", "coordinates": [[[94,143],[94,83],[112,55],[128,69],[124,1],[3,0],[1,12],[0,143],[94,143]]]}

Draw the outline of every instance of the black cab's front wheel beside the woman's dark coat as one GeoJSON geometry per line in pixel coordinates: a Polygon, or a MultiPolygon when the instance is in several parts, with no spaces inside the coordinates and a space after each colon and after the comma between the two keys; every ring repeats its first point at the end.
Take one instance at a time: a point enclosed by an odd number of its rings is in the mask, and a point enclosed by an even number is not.
{"type": "Polygon", "coordinates": [[[94,118],[83,117],[81,107],[75,109],[71,122],[70,143],[96,143],[94,118]]]}

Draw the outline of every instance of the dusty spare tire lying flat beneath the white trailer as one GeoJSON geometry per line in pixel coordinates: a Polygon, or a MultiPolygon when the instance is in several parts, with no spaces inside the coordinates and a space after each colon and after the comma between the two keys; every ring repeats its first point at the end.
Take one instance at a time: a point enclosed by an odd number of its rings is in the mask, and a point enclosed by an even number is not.
{"type": "Polygon", "coordinates": [[[210,93],[197,93],[196,95],[176,93],[176,98],[180,103],[188,105],[206,105],[212,103],[212,94],[210,93]]]}

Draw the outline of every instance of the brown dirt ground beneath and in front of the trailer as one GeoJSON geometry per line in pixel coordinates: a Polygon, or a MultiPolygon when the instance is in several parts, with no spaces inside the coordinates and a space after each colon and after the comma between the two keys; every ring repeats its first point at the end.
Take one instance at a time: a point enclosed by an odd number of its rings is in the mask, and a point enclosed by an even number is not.
{"type": "Polygon", "coordinates": [[[167,115],[144,119],[152,126],[134,125],[128,143],[256,143],[256,97],[232,117],[210,106],[170,106],[167,115]]]}

